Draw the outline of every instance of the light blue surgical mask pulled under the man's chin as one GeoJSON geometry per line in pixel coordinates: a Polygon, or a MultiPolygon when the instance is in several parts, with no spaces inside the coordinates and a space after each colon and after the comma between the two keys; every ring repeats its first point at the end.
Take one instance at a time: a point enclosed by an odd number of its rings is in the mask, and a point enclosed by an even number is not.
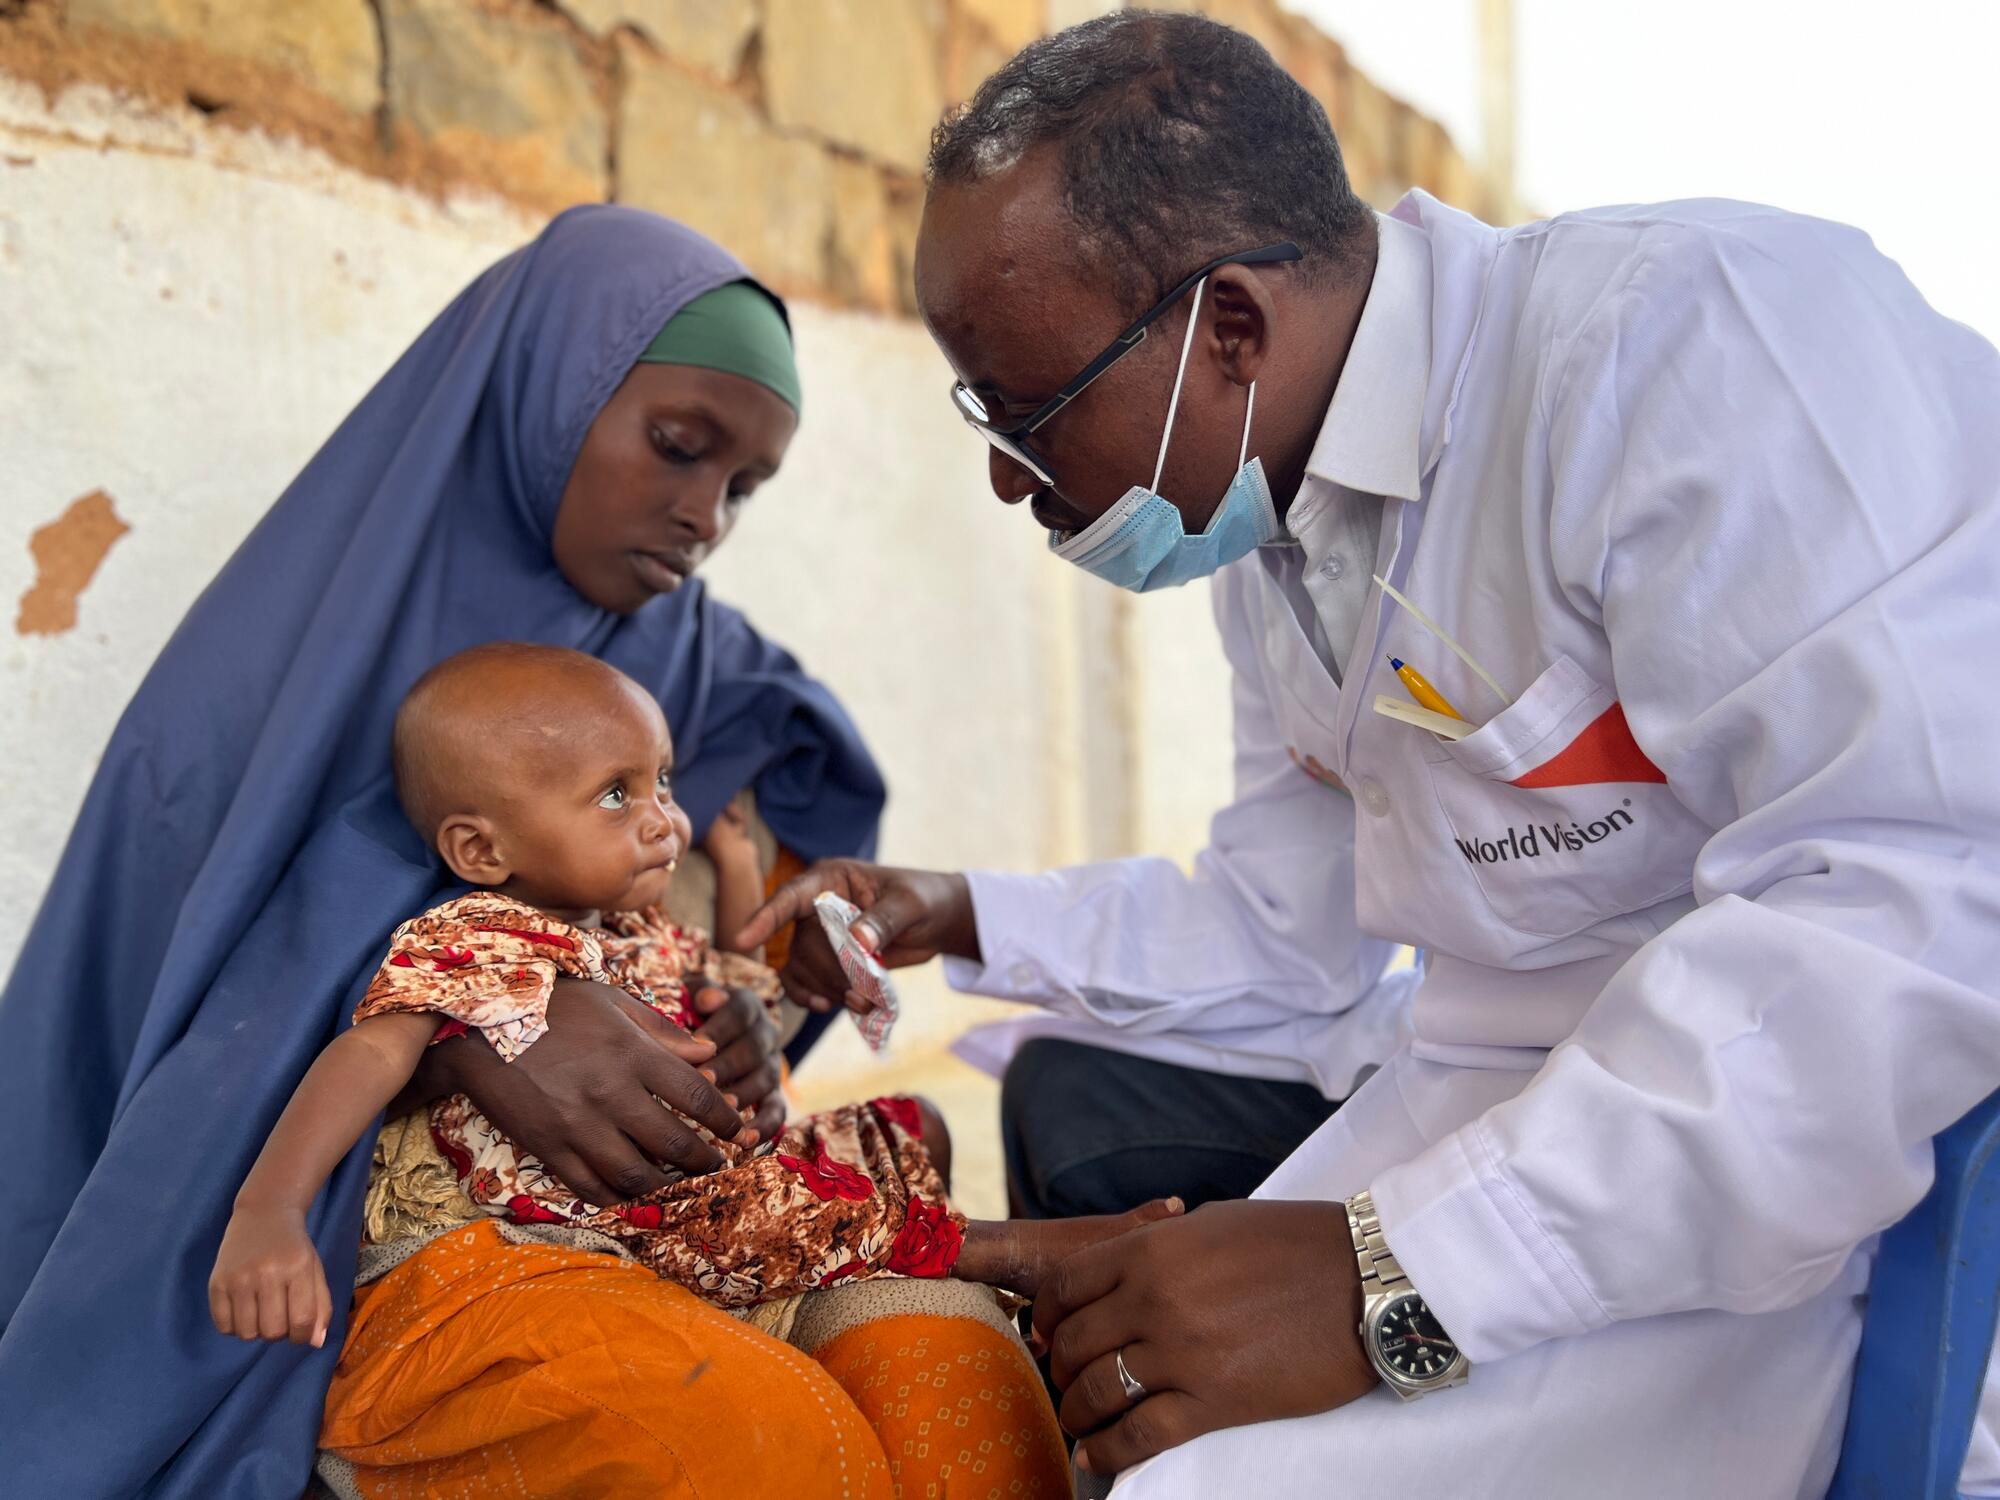
{"type": "Polygon", "coordinates": [[[1236,478],[1202,534],[1188,536],[1180,526],[1180,512],[1160,494],[1160,472],[1166,468],[1168,438],[1174,436],[1174,412],[1180,410],[1180,382],[1188,374],[1188,350],[1194,348],[1204,286],[1206,278],[1194,288],[1194,308],[1188,312],[1188,336],[1180,344],[1180,368],[1174,372],[1174,398],[1166,406],[1166,432],[1160,434],[1160,460],[1152,468],[1152,484],[1146,488],[1134,484],[1084,530],[1052,532],[1048,538],[1048,550],[1064,562],[1074,562],[1084,572],[1134,594],[1208,578],[1278,536],[1278,510],[1270,502],[1264,464],[1258,458],[1244,462],[1250,452],[1256,382],[1250,382],[1250,400],[1244,406],[1236,478]]]}

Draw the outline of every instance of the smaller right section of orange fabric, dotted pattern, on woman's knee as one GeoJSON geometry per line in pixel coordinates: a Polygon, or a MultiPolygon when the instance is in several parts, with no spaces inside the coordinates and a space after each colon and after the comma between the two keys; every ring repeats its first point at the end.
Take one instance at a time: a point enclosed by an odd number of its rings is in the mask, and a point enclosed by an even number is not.
{"type": "Polygon", "coordinates": [[[898,1500],[1070,1494],[1070,1460],[1026,1352],[976,1318],[876,1318],[814,1356],[854,1398],[898,1500]]]}

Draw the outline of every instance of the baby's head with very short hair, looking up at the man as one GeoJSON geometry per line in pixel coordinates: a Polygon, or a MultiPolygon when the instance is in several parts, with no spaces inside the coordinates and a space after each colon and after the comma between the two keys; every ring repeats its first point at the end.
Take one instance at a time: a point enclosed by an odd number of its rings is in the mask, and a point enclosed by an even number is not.
{"type": "Polygon", "coordinates": [[[670,760],[652,696],[558,646],[474,646],[430,668],[396,712],[396,792],[416,830],[460,876],[526,880],[550,906],[612,904],[618,870],[672,864],[688,834],[670,760]],[[578,884],[590,890],[566,888],[578,884]]]}

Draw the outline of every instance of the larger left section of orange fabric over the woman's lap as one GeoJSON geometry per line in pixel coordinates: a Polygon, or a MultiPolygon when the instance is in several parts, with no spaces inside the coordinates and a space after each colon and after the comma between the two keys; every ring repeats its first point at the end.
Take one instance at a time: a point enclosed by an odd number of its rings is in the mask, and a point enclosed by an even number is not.
{"type": "Polygon", "coordinates": [[[320,1444],[368,1500],[894,1496],[810,1358],[648,1270],[494,1224],[354,1294],[320,1444]]]}

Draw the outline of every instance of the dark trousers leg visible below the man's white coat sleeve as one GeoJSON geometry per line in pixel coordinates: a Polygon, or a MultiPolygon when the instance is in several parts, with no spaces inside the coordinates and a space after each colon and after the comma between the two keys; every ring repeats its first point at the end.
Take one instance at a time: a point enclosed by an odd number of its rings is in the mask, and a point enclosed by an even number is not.
{"type": "Polygon", "coordinates": [[[1338,1108],[1310,1084],[1232,1078],[1036,1038],[1000,1086],[1016,1218],[1248,1198],[1338,1108]]]}

